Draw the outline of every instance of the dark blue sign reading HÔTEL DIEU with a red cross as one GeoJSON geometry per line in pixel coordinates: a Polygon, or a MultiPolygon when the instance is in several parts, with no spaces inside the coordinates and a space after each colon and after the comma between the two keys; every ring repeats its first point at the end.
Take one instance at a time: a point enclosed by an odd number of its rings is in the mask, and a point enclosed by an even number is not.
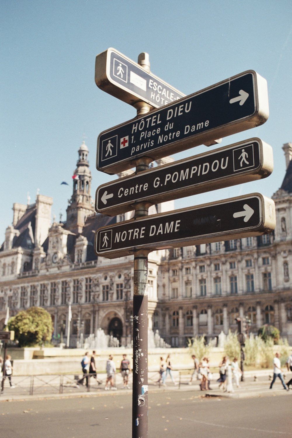
{"type": "Polygon", "coordinates": [[[99,134],[96,167],[118,173],[263,124],[267,81],[246,71],[99,134]]]}

